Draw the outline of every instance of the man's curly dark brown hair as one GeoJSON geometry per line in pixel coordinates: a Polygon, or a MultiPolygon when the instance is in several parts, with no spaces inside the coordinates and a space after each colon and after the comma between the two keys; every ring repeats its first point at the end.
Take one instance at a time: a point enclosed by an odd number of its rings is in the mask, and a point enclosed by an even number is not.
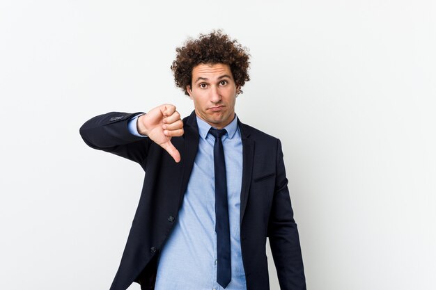
{"type": "Polygon", "coordinates": [[[195,40],[189,38],[183,47],[176,48],[176,60],[171,65],[176,86],[189,95],[186,87],[192,86],[192,70],[196,65],[224,63],[230,66],[235,84],[241,88],[250,80],[248,51],[221,30],[200,34],[195,40]]]}

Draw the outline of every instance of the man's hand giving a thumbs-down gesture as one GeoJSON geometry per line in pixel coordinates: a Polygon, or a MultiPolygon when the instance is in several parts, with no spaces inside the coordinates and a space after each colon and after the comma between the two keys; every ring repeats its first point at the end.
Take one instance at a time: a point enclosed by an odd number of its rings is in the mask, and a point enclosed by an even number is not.
{"type": "Polygon", "coordinates": [[[180,153],[171,143],[171,137],[183,135],[183,122],[176,106],[163,104],[141,115],[137,121],[139,134],[148,136],[168,152],[174,161],[180,161],[180,153]]]}

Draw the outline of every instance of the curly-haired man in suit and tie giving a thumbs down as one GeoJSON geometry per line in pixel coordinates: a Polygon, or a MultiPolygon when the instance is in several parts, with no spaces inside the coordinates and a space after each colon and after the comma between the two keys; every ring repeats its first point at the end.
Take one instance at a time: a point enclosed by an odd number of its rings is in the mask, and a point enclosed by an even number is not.
{"type": "Polygon", "coordinates": [[[269,289],[270,239],[281,289],[306,289],[281,143],[242,124],[235,101],[249,81],[246,49],[221,31],[176,49],[176,85],[194,102],[180,120],[163,104],[107,113],[80,129],[91,147],[146,172],[111,290],[269,289]]]}

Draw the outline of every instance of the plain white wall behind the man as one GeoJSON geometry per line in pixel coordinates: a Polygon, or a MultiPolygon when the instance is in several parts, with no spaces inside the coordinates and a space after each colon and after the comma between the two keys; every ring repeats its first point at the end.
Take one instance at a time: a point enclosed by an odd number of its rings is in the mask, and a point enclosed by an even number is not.
{"type": "Polygon", "coordinates": [[[435,19],[431,0],[1,1],[0,289],[109,289],[143,172],[79,127],[189,114],[169,66],[215,28],[250,48],[236,111],[282,140],[308,289],[436,289],[435,19]]]}

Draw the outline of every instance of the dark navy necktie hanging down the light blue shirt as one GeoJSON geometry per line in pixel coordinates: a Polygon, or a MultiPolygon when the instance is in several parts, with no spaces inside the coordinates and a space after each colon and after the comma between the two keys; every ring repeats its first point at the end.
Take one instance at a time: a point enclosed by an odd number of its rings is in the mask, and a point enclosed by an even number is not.
{"type": "Polygon", "coordinates": [[[224,148],[221,137],[227,133],[226,129],[209,131],[215,137],[213,147],[215,165],[215,232],[217,232],[217,282],[226,288],[231,280],[230,257],[230,227],[228,225],[227,179],[224,148]]]}

